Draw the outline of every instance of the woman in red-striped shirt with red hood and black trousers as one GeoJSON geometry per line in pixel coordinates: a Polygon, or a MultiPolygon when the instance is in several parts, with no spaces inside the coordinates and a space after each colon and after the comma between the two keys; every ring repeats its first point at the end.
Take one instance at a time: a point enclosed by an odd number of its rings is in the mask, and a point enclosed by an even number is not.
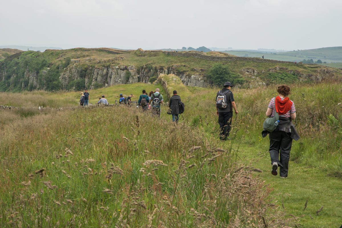
{"type": "Polygon", "coordinates": [[[278,86],[277,97],[273,97],[268,104],[266,116],[273,117],[277,111],[279,124],[273,132],[269,132],[269,154],[271,156],[272,174],[286,178],[289,170],[290,151],[292,139],[298,140],[299,135],[291,120],[296,118],[296,108],[289,99],[290,87],[287,85],[278,86]],[[279,159],[280,153],[280,159],[279,159]]]}

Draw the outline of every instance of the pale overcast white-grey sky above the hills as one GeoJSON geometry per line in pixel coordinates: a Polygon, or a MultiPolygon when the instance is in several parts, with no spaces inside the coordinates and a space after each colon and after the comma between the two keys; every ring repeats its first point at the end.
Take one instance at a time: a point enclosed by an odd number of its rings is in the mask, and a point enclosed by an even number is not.
{"type": "Polygon", "coordinates": [[[0,0],[0,45],[342,46],[341,0],[0,0]]]}

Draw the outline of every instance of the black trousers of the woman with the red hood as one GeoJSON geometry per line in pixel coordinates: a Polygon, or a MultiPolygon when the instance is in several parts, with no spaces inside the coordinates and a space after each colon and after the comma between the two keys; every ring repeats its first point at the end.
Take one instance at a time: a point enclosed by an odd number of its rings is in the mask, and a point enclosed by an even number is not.
{"type": "Polygon", "coordinates": [[[287,177],[289,171],[290,151],[292,146],[291,133],[285,131],[273,131],[269,133],[269,155],[271,164],[277,162],[279,175],[287,177]],[[279,159],[280,152],[280,159],[279,159]]]}

